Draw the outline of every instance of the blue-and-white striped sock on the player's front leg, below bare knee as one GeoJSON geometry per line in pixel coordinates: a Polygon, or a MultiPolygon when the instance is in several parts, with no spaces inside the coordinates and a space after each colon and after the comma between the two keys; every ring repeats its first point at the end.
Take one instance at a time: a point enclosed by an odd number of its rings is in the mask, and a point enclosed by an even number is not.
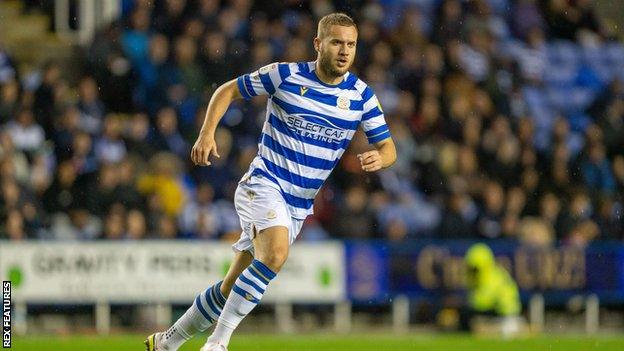
{"type": "Polygon", "coordinates": [[[234,329],[260,302],[273,278],[275,278],[275,273],[269,267],[258,260],[253,260],[251,265],[236,279],[219,317],[219,322],[208,340],[227,346],[234,329]]]}

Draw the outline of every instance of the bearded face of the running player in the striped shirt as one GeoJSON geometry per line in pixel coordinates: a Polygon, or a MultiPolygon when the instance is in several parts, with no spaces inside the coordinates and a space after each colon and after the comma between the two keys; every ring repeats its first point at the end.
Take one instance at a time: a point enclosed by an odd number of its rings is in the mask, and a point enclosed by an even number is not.
{"type": "Polygon", "coordinates": [[[330,26],[324,38],[315,40],[321,69],[333,77],[347,73],[355,59],[356,42],[355,27],[330,26]]]}

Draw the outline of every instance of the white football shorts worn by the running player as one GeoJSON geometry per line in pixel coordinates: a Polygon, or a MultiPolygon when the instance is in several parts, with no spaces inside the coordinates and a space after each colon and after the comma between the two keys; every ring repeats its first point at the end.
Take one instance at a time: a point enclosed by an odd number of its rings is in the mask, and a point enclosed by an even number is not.
{"type": "Polygon", "coordinates": [[[292,245],[303,227],[303,219],[291,217],[277,186],[262,176],[243,177],[234,194],[234,206],[243,229],[238,241],[232,245],[235,251],[249,251],[254,255],[252,240],[261,230],[273,226],[288,228],[289,244],[292,245]]]}

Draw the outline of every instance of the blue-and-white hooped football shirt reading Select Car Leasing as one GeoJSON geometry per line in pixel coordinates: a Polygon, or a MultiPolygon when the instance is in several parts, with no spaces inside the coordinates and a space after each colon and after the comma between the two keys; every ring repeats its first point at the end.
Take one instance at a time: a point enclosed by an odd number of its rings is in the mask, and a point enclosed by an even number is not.
{"type": "Polygon", "coordinates": [[[369,143],[390,137],[373,90],[354,74],[322,82],[315,62],[272,63],[237,79],[245,99],[268,95],[258,155],[246,176],[262,175],[282,193],[292,217],[312,214],[314,197],[358,126],[369,143]]]}

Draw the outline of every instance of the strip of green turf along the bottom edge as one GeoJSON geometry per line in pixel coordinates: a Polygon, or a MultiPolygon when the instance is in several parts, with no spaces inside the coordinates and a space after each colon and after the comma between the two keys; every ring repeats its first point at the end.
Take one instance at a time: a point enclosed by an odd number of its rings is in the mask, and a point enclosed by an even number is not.
{"type": "MultiPolygon", "coordinates": [[[[14,338],[15,350],[33,351],[134,351],[144,350],[143,335],[122,335],[110,337],[68,336],[14,338]]],[[[195,338],[188,342],[181,351],[199,350],[204,338],[195,338]]],[[[468,335],[239,335],[230,344],[230,351],[622,351],[624,335],[610,337],[569,337],[551,336],[517,340],[484,339],[468,335]]]]}

